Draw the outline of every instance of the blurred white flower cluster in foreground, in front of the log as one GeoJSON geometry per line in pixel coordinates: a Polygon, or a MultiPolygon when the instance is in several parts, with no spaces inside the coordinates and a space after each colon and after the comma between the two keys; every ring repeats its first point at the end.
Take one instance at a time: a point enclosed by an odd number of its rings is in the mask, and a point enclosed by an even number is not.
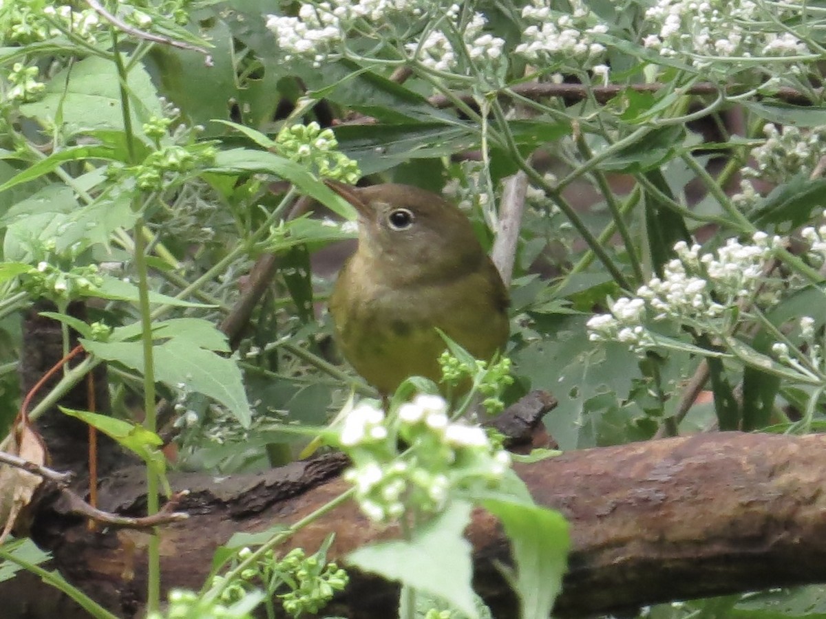
{"type": "Polygon", "coordinates": [[[398,435],[382,410],[361,404],[344,421],[339,441],[353,466],[344,479],[354,484],[362,512],[389,522],[408,510],[439,512],[451,489],[495,484],[510,466],[510,455],[491,446],[482,428],[452,423],[437,395],[418,395],[398,411],[398,435]],[[396,453],[401,438],[410,447],[396,453]]]}

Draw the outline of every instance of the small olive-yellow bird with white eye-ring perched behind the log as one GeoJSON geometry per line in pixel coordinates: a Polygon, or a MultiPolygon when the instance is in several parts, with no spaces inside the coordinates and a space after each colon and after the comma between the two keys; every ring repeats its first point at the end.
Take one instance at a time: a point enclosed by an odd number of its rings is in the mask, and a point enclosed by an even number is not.
{"type": "Polygon", "coordinates": [[[344,357],[382,395],[409,376],[438,381],[437,328],[477,359],[508,338],[508,292],[468,218],[418,187],[325,181],[358,211],[358,249],[330,314],[344,357]]]}

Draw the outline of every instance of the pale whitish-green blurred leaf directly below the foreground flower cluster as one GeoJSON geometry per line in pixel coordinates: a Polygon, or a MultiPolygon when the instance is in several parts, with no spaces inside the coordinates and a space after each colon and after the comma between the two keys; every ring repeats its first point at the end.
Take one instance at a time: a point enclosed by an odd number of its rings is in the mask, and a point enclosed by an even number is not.
{"type": "Polygon", "coordinates": [[[442,598],[477,619],[471,546],[462,535],[470,522],[471,508],[470,503],[453,501],[438,517],[417,528],[410,541],[363,546],[350,553],[347,561],[358,569],[442,598]]]}

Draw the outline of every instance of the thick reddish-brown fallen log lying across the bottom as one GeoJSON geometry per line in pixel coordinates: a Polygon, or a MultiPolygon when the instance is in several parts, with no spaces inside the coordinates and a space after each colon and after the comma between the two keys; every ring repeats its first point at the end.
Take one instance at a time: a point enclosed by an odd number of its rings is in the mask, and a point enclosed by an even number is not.
{"type": "MultiPolygon", "coordinates": [[[[330,479],[340,465],[294,463],[220,483],[206,475],[173,478],[174,489],[191,490],[182,507],[192,517],[161,530],[164,587],[200,588],[213,551],[233,533],[296,522],[320,508],[345,489],[339,477],[330,479]]],[[[516,470],[537,503],[560,510],[571,523],[572,553],[555,610],[560,617],[826,581],[826,437],[703,434],[572,451],[516,470]]],[[[142,480],[140,470],[112,476],[102,488],[102,508],[140,513],[142,480]]],[[[336,559],[394,535],[348,504],[287,547],[314,550],[330,532],[336,559]]],[[[74,584],[123,617],[140,612],[145,532],[90,533],[56,503],[40,510],[32,535],[53,551],[54,567],[74,584]]],[[[515,617],[515,599],[495,568],[496,561],[509,560],[500,527],[477,510],[468,538],[477,591],[495,617],[515,617]]],[[[0,588],[0,598],[8,599],[9,586],[20,597],[16,583],[0,588]]],[[[395,593],[392,584],[354,574],[348,592],[327,611],[392,617],[395,593]]]]}

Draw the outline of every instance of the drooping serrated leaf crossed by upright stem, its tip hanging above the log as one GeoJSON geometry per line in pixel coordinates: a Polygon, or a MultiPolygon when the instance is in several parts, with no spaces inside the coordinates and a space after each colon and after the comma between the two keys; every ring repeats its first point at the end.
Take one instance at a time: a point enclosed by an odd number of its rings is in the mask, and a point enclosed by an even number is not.
{"type": "MultiPolygon", "coordinates": [[[[82,339],[81,343],[96,357],[144,371],[140,342],[104,343],[82,339]]],[[[177,338],[152,347],[152,352],[156,380],[173,389],[195,391],[215,399],[229,409],[244,428],[249,428],[252,411],[235,361],[177,338]]]]}

